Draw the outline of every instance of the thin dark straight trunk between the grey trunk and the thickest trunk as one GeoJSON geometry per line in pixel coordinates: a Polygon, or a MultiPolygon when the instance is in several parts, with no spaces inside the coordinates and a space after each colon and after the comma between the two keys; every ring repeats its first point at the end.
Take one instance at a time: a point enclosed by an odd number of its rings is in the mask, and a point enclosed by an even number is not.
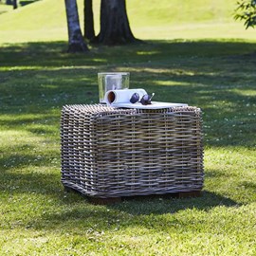
{"type": "Polygon", "coordinates": [[[84,0],[84,38],[93,40],[95,38],[92,0],[84,0]]]}

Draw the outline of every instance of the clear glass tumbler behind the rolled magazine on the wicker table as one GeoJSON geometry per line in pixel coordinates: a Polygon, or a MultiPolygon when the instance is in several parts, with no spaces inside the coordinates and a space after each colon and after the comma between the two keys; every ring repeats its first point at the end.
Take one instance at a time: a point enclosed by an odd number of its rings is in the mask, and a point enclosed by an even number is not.
{"type": "Polygon", "coordinates": [[[129,72],[98,73],[100,103],[105,103],[105,93],[110,90],[129,89],[129,72]]]}

